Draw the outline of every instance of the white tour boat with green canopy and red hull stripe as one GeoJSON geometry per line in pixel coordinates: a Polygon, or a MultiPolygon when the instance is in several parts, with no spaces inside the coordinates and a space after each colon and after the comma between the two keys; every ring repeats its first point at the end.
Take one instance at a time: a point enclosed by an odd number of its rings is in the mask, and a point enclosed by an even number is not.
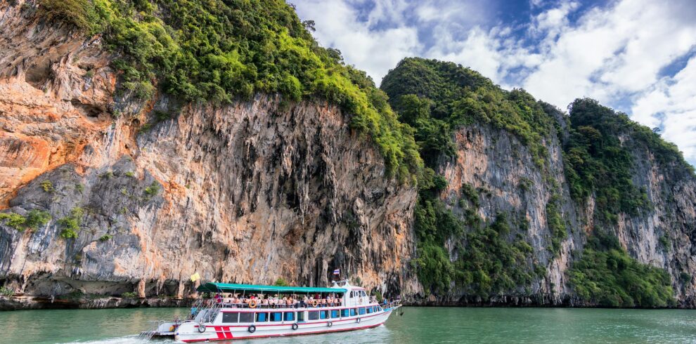
{"type": "Polygon", "coordinates": [[[399,301],[378,303],[348,282],[329,288],[206,283],[198,292],[212,298],[197,300],[187,319],[153,322],[141,337],[195,343],[353,331],[380,326],[401,307],[399,301]],[[291,301],[271,304],[283,296],[291,301]]]}

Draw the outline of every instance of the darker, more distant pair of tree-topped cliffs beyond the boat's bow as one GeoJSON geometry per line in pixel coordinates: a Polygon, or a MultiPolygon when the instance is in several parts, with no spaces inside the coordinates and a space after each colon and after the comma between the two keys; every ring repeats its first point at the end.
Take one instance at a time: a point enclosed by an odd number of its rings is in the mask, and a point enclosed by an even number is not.
{"type": "Polygon", "coordinates": [[[695,305],[696,178],[674,145],[450,62],[405,59],[382,89],[434,176],[415,206],[415,302],[695,305]]]}

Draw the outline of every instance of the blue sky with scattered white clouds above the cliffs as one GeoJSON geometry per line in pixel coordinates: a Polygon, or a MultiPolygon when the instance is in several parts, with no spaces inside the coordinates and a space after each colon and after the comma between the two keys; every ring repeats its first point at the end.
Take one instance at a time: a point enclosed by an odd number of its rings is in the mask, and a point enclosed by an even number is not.
{"type": "Polygon", "coordinates": [[[590,97],[696,165],[696,0],[289,0],[376,84],[405,57],[471,67],[562,110],[590,97]]]}

